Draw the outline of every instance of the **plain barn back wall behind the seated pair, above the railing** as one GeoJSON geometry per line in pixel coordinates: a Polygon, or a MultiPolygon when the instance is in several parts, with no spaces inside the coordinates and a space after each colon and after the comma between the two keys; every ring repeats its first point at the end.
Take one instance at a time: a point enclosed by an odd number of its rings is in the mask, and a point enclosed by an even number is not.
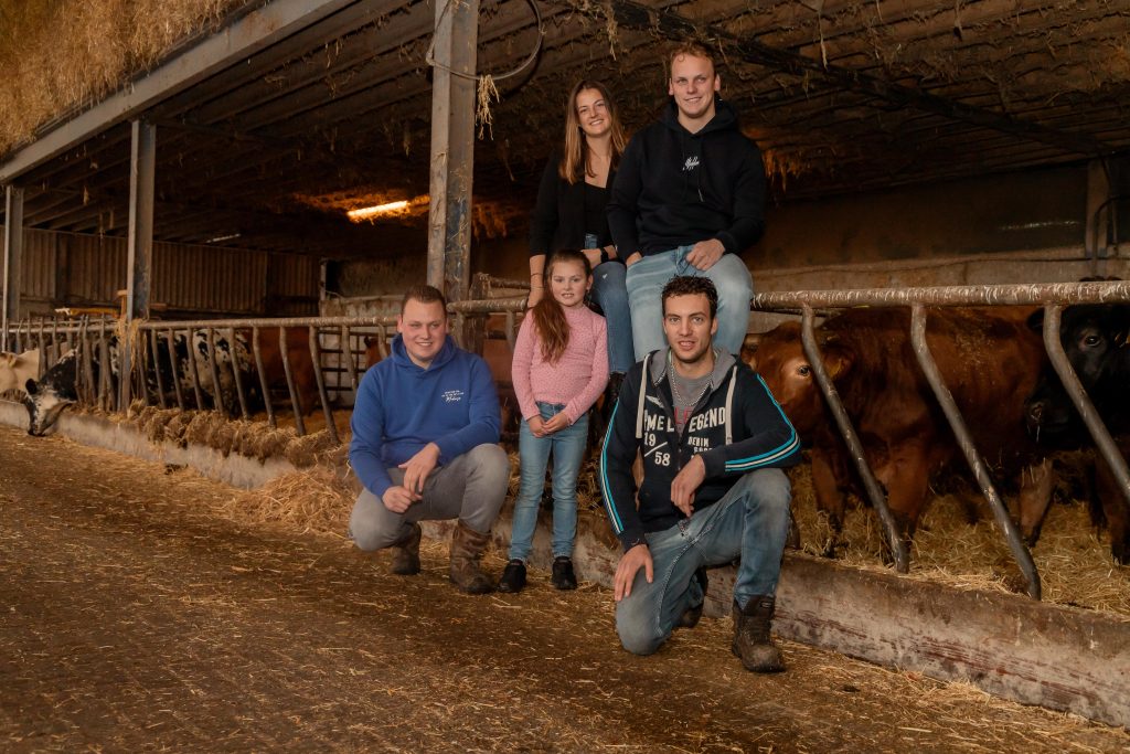
{"type": "MultiPolygon", "coordinates": [[[[1086,208],[1086,165],[784,202],[745,259],[758,291],[1072,280],[1092,274],[1086,208]]],[[[475,271],[527,277],[513,225],[475,246],[475,271]]]]}

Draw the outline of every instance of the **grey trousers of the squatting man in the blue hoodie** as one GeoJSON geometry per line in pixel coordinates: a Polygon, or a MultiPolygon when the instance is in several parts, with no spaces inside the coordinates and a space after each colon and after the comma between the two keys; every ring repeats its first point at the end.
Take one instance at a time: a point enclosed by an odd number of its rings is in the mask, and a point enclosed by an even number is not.
{"type": "MultiPolygon", "coordinates": [[[[391,468],[393,484],[405,480],[403,469],[391,468]]],[[[349,536],[364,551],[382,549],[405,537],[416,521],[455,519],[468,528],[490,531],[506,499],[510,459],[495,444],[477,445],[446,466],[428,474],[423,500],[403,513],[393,513],[368,489],[362,489],[349,514],[349,536]]]]}

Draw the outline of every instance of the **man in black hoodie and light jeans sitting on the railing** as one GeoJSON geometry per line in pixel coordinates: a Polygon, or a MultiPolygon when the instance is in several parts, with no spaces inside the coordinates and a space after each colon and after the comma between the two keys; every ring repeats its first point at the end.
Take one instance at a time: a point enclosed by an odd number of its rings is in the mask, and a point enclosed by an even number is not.
{"type": "Polygon", "coordinates": [[[704,276],[719,292],[715,341],[741,353],[753,280],[739,255],[764,229],[765,170],[722,102],[710,51],[684,43],[668,59],[671,102],[628,144],[608,202],[625,259],[636,358],[664,345],[659,293],[676,275],[704,276]]]}

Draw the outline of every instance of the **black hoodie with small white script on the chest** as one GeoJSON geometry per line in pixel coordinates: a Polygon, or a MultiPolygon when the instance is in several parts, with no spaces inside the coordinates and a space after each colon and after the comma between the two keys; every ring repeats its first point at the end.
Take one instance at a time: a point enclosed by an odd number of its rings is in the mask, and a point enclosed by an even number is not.
{"type": "Polygon", "coordinates": [[[715,97],[697,133],[679,123],[675,102],[628,142],[612,183],[608,226],[618,255],[647,255],[718,239],[741,253],[764,231],[762,153],[738,114],[715,97]]]}

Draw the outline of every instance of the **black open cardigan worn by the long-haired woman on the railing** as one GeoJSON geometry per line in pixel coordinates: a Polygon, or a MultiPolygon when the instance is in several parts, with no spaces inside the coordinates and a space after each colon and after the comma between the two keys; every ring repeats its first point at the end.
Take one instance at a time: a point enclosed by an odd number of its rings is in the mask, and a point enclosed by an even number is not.
{"type": "MultiPolygon", "coordinates": [[[[549,155],[538,187],[538,203],[530,218],[530,257],[559,249],[584,249],[584,181],[570,183],[557,174],[560,153],[549,155]]],[[[616,171],[608,172],[608,188],[616,180],[616,171]]],[[[607,220],[597,228],[600,248],[611,244],[607,220]]]]}

